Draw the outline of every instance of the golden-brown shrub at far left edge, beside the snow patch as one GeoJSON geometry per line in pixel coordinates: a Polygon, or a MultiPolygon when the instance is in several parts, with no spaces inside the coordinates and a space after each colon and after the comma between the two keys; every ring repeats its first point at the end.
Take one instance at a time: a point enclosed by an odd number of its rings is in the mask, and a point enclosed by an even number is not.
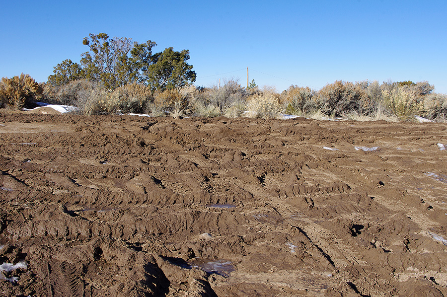
{"type": "Polygon", "coordinates": [[[2,77],[0,81],[0,105],[20,109],[30,107],[42,97],[43,88],[29,74],[12,78],[2,77]]]}

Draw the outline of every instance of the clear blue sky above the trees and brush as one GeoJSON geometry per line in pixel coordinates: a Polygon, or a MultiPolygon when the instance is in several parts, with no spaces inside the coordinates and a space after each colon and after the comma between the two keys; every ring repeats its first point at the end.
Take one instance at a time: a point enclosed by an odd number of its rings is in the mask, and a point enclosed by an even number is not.
{"type": "Polygon", "coordinates": [[[446,0],[3,1],[0,76],[46,81],[89,33],[188,49],[195,84],[219,78],[319,89],[335,80],[428,80],[447,93],[446,0]],[[221,74],[221,75],[219,75],[221,74]]]}

